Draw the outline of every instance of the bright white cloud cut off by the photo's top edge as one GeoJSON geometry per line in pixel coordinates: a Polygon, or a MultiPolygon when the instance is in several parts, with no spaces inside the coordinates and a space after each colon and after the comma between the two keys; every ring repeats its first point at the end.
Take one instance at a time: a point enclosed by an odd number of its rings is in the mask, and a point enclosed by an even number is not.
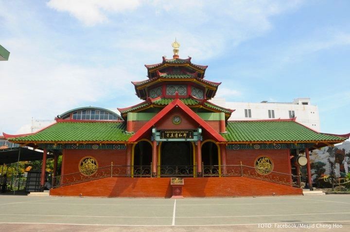
{"type": "Polygon", "coordinates": [[[87,26],[107,20],[106,12],[120,13],[137,8],[139,0],[50,0],[47,5],[57,11],[67,11],[87,26]]]}

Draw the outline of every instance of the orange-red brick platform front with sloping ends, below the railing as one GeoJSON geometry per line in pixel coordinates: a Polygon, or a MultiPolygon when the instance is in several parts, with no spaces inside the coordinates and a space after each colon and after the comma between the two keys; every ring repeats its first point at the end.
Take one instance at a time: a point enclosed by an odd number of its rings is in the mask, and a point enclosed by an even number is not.
{"type": "MultiPolygon", "coordinates": [[[[290,185],[248,177],[184,178],[182,196],[244,197],[302,195],[290,185]]],[[[170,198],[170,178],[108,177],[50,190],[51,196],[170,198]]]]}

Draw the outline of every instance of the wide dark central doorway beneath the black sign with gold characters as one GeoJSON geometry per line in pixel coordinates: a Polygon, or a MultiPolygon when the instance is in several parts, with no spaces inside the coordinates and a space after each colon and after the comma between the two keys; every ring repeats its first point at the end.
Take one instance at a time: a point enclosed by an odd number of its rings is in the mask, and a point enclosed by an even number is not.
{"type": "Polygon", "coordinates": [[[162,142],[159,157],[160,177],[193,177],[194,156],[191,142],[162,142]]]}

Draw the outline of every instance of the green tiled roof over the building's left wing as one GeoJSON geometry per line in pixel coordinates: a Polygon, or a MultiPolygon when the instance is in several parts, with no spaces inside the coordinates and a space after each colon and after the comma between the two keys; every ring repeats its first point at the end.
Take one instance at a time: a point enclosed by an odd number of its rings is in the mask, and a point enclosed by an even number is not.
{"type": "Polygon", "coordinates": [[[43,131],[9,138],[13,142],[119,142],[127,141],[124,122],[57,122],[43,131]]]}

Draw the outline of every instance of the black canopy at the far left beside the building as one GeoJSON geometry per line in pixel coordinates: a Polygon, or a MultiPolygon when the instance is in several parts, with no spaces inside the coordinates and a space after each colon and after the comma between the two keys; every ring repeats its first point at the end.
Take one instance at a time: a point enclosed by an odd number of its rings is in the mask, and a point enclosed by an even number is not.
{"type": "MultiPolygon", "coordinates": [[[[19,161],[42,160],[43,155],[40,151],[21,147],[0,149],[0,165],[16,163],[18,161],[18,154],[19,161]]],[[[53,155],[48,154],[47,158],[53,158],[53,155]]]]}

